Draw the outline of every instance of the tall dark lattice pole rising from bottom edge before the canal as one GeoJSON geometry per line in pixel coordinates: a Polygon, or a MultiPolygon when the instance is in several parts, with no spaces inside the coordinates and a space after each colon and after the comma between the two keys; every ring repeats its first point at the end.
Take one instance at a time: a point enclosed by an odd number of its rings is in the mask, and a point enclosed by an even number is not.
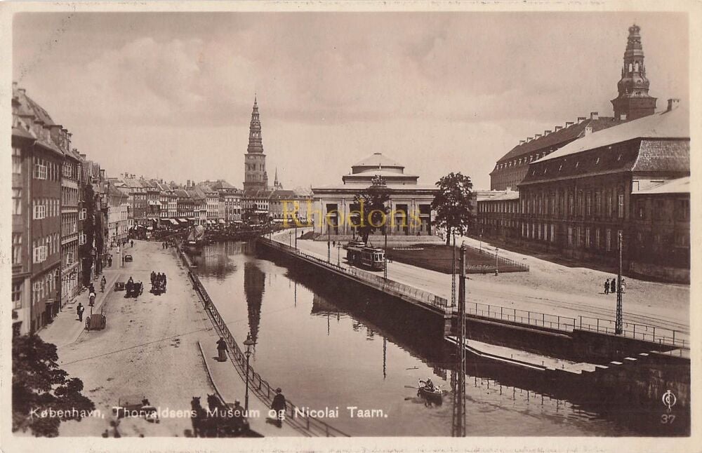
{"type": "Polygon", "coordinates": [[[461,244],[461,278],[458,279],[458,325],[456,326],[456,378],[453,379],[453,424],[451,435],[465,437],[465,243],[461,244]]]}

